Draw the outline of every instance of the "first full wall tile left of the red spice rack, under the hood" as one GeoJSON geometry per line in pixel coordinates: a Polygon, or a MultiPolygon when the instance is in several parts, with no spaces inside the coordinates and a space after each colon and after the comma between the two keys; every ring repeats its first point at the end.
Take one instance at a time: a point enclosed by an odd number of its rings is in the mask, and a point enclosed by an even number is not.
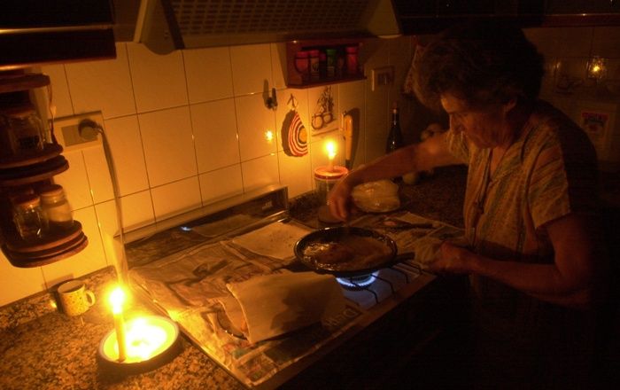
{"type": "Polygon", "coordinates": [[[232,46],[230,60],[235,96],[258,93],[274,88],[271,80],[271,51],[269,44],[232,46]]]}

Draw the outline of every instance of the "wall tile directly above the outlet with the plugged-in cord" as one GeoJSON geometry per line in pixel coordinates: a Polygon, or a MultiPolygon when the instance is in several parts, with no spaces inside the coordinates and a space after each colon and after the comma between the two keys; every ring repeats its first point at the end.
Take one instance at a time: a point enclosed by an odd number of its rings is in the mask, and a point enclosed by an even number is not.
{"type": "Polygon", "coordinates": [[[125,43],[114,59],[66,64],[75,113],[101,111],[104,118],[136,113],[125,43]]]}

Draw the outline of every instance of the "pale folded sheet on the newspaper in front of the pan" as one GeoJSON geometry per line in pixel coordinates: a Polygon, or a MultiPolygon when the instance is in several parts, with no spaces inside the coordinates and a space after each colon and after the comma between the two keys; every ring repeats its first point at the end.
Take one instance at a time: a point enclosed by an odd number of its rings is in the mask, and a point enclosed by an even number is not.
{"type": "Polygon", "coordinates": [[[226,286],[236,300],[222,302],[229,320],[252,344],[316,324],[345,309],[342,289],[331,275],[270,274],[226,286]]]}

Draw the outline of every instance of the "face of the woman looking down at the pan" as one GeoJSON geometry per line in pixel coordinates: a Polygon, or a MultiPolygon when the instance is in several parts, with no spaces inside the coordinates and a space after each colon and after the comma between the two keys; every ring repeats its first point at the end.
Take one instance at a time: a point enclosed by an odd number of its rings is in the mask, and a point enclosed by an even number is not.
{"type": "Polygon", "coordinates": [[[506,110],[504,105],[489,105],[471,108],[465,100],[450,93],[441,95],[441,105],[450,118],[450,129],[463,134],[479,148],[490,148],[500,144],[505,130],[506,110]]]}

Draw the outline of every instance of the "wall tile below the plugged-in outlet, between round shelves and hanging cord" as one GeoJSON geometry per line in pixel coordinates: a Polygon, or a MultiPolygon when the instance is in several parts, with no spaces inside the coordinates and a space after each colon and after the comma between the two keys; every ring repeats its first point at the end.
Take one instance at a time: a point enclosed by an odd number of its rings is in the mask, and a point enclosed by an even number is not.
{"type": "Polygon", "coordinates": [[[65,189],[66,199],[73,209],[87,207],[93,204],[90,195],[89,176],[81,151],[64,152],[69,162],[69,169],[60,175],[54,176],[54,182],[65,189]]]}

